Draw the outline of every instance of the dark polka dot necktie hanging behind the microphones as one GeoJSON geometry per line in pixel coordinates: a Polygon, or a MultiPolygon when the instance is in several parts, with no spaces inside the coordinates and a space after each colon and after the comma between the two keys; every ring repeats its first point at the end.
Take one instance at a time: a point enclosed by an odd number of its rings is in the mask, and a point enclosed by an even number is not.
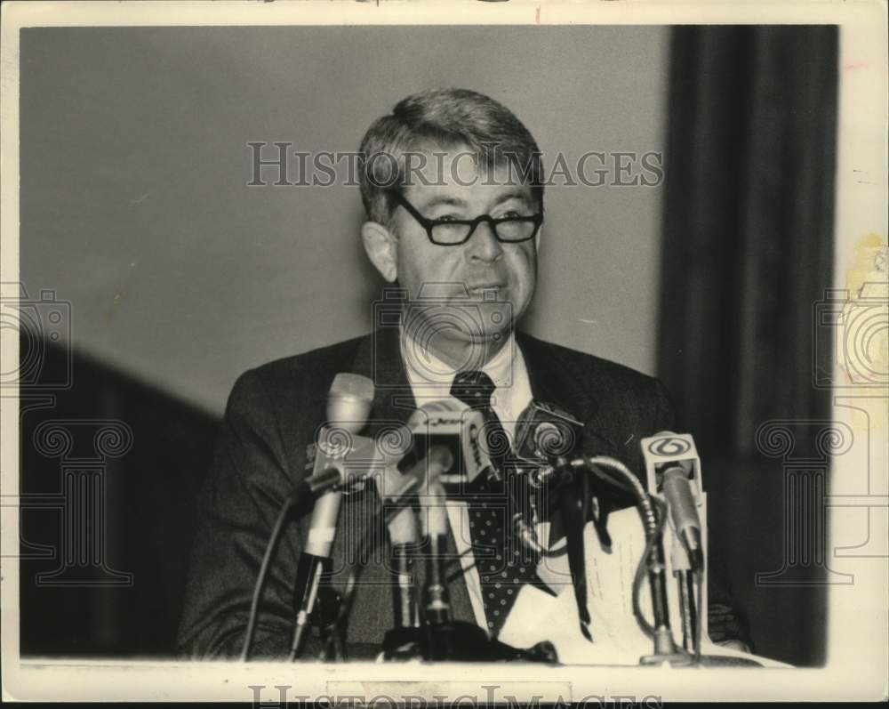
{"type": "MultiPolygon", "coordinates": [[[[502,482],[488,485],[483,493],[469,497],[469,538],[485,603],[485,619],[493,637],[501,631],[509,609],[525,583],[536,579],[535,564],[510,534],[509,522],[516,510],[510,500],[509,445],[500,417],[491,406],[495,387],[484,372],[461,372],[454,377],[451,395],[485,415],[485,438],[492,463],[501,471],[502,482]]],[[[519,498],[520,499],[520,498],[519,498]]]]}

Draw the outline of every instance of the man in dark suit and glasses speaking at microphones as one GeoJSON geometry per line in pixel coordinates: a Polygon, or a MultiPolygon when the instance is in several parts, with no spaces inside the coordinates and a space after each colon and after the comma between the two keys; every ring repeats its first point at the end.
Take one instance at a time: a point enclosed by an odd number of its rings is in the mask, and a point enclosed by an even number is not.
{"type": "MultiPolygon", "coordinates": [[[[368,435],[405,422],[423,401],[483,391],[478,408],[511,437],[537,399],[583,423],[588,455],[616,457],[644,479],[640,439],[674,428],[657,380],[516,329],[536,286],[543,170],[533,136],[509,109],[460,89],[414,94],[371,126],[361,153],[361,237],[397,298],[375,304],[372,334],[252,369],[235,384],[200,500],[180,625],[180,647],[192,657],[240,651],[270,530],[308,474],[307,449],[339,373],[375,385],[368,435]],[[395,320],[386,317],[393,302],[395,320]],[[475,388],[465,390],[467,382],[475,388]]],[[[355,563],[356,530],[371,512],[372,495],[347,496],[333,551],[340,589],[355,563]]],[[[496,636],[517,590],[540,578],[502,558],[505,533],[489,512],[471,499],[449,505],[446,556],[454,619],[496,636]],[[490,556],[479,552],[485,544],[490,556]]],[[[252,657],[287,654],[307,532],[308,516],[287,528],[269,567],[252,657]]],[[[384,564],[364,571],[348,624],[350,657],[372,657],[392,626],[391,581],[384,564]]],[[[711,637],[744,640],[712,583],[710,601],[711,637]]]]}

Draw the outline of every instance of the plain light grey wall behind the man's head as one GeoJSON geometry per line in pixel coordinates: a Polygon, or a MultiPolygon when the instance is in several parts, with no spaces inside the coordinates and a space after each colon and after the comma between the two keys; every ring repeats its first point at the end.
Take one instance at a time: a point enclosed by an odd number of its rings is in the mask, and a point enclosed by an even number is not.
{"type": "MultiPolygon", "coordinates": [[[[247,187],[248,141],[355,150],[406,94],[461,85],[548,169],[661,151],[668,31],[26,29],[21,281],[72,303],[77,351],[220,414],[244,369],[367,332],[383,285],[358,189],[247,187]]],[[[552,187],[547,210],[525,329],[653,373],[661,188],[552,187]]]]}

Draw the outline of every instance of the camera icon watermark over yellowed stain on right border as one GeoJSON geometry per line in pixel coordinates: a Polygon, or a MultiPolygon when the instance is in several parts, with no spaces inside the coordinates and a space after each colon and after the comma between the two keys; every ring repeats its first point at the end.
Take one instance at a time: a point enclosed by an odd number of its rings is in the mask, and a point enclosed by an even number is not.
{"type": "Polygon", "coordinates": [[[889,284],[869,281],[857,294],[829,290],[825,296],[813,310],[813,386],[885,389],[889,385],[889,284]],[[824,354],[829,351],[832,359],[824,354]],[[847,381],[834,375],[834,362],[847,381]]]}

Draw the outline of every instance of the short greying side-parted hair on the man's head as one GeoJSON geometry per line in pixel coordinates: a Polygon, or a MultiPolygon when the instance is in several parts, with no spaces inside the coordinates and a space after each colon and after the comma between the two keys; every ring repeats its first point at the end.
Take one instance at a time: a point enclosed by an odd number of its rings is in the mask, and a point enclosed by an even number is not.
{"type": "Polygon", "coordinates": [[[361,199],[367,216],[388,224],[393,189],[404,189],[405,155],[430,149],[468,149],[477,168],[509,167],[543,204],[543,163],[533,135],[501,103],[469,89],[431,89],[398,101],[373,122],[361,153],[361,199]]]}

